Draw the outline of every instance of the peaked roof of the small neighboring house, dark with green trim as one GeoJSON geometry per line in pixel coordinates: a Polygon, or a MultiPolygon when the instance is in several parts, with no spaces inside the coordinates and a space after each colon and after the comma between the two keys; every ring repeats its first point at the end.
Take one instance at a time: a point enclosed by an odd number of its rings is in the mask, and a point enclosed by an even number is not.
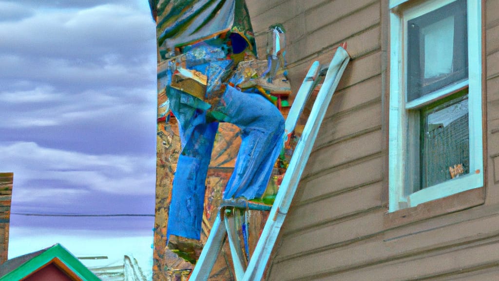
{"type": "Polygon", "coordinates": [[[55,264],[74,280],[100,280],[61,244],[55,244],[2,263],[0,265],[0,281],[21,280],[49,264],[55,264]]]}

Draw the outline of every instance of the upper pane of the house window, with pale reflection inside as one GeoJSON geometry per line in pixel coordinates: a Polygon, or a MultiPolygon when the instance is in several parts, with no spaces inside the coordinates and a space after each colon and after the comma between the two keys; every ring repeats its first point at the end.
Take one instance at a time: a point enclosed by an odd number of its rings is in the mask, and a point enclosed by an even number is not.
{"type": "Polygon", "coordinates": [[[468,77],[466,0],[407,21],[407,101],[468,77]]]}

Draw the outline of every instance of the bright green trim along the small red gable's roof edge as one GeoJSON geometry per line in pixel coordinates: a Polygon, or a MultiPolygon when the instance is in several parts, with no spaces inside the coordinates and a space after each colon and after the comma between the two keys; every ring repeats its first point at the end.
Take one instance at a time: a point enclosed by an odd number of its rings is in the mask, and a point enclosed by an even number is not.
{"type": "Polygon", "coordinates": [[[3,280],[21,280],[43,267],[44,265],[52,262],[54,258],[58,258],[67,268],[73,271],[78,277],[84,281],[100,281],[100,279],[95,276],[92,271],[90,271],[81,261],[78,260],[71,252],[69,252],[61,244],[55,244],[49,248],[46,248],[42,253],[34,256],[28,261],[24,262],[17,268],[13,269],[9,273],[0,277],[0,281],[3,280]]]}

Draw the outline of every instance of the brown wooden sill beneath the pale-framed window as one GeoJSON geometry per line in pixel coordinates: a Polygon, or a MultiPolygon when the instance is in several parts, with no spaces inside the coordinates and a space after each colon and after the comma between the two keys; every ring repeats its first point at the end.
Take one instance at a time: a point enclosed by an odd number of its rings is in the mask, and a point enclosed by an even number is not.
{"type": "Polygon", "coordinates": [[[384,215],[384,226],[392,228],[411,222],[471,208],[485,202],[485,187],[469,189],[384,215]]]}

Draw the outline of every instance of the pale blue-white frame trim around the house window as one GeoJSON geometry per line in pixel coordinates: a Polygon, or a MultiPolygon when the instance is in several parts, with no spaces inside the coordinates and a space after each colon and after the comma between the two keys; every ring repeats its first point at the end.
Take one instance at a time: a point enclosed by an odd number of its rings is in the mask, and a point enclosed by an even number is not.
{"type": "MultiPolygon", "coordinates": [[[[470,172],[469,174],[447,180],[416,191],[408,196],[405,193],[404,171],[408,114],[407,109],[422,103],[429,103],[440,96],[438,92],[428,94],[411,102],[405,102],[405,53],[404,17],[414,18],[454,0],[427,1],[416,8],[411,7],[403,13],[397,11],[398,5],[409,0],[390,0],[390,106],[389,106],[389,211],[413,207],[420,203],[443,198],[455,193],[484,185],[483,141],[482,141],[482,1],[467,0],[468,7],[468,80],[450,85],[456,89],[468,84],[469,94],[469,131],[470,131],[470,172]],[[409,14],[409,16],[408,16],[409,14]],[[404,71],[402,71],[404,69],[404,71]],[[394,74],[401,73],[401,74],[394,74]],[[424,100],[423,100],[424,99],[424,100]]],[[[447,90],[448,90],[447,88],[447,90]]]]}

